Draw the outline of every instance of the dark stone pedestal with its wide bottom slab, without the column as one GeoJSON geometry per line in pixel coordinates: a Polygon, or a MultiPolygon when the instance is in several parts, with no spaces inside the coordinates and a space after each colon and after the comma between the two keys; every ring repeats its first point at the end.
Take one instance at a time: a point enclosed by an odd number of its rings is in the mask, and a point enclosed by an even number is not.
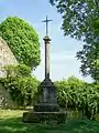
{"type": "Polygon", "coordinates": [[[57,91],[50,79],[45,79],[38,86],[38,99],[34,105],[34,111],[23,114],[24,122],[58,121],[66,116],[59,111],[57,104],[57,91]]]}

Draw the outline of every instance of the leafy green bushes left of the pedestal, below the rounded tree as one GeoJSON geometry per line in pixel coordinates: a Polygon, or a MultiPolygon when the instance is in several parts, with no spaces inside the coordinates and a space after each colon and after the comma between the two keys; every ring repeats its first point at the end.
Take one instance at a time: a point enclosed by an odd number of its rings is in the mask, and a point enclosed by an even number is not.
{"type": "Polygon", "coordinates": [[[31,69],[24,64],[6,66],[7,78],[0,79],[13,102],[19,106],[31,105],[35,101],[38,81],[31,76],[31,69]]]}

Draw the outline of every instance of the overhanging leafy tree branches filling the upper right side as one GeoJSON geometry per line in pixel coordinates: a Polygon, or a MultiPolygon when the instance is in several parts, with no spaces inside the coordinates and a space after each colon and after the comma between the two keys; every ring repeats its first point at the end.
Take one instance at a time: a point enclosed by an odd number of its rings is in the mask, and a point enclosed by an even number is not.
{"type": "Polygon", "coordinates": [[[95,65],[95,60],[99,59],[99,0],[50,0],[50,2],[56,6],[62,14],[64,34],[86,42],[82,50],[77,53],[81,61],[82,74],[90,74],[98,80],[99,68],[95,65]]]}

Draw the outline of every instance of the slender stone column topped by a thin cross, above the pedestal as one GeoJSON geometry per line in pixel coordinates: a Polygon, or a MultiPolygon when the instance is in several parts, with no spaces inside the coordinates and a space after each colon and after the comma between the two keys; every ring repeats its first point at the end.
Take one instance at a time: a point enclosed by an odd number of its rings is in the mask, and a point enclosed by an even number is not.
{"type": "Polygon", "coordinates": [[[46,23],[46,35],[44,37],[44,42],[45,42],[45,79],[50,79],[50,37],[48,34],[48,22],[52,20],[47,19],[46,16],[46,20],[42,21],[46,23]]]}

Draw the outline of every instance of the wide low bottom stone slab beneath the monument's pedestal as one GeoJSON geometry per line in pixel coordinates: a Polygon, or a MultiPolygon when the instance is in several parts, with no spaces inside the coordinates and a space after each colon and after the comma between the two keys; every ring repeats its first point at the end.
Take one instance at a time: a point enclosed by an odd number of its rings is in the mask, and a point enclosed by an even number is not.
{"type": "Polygon", "coordinates": [[[41,123],[52,122],[63,123],[66,121],[67,112],[25,112],[23,113],[23,122],[41,123]]]}

